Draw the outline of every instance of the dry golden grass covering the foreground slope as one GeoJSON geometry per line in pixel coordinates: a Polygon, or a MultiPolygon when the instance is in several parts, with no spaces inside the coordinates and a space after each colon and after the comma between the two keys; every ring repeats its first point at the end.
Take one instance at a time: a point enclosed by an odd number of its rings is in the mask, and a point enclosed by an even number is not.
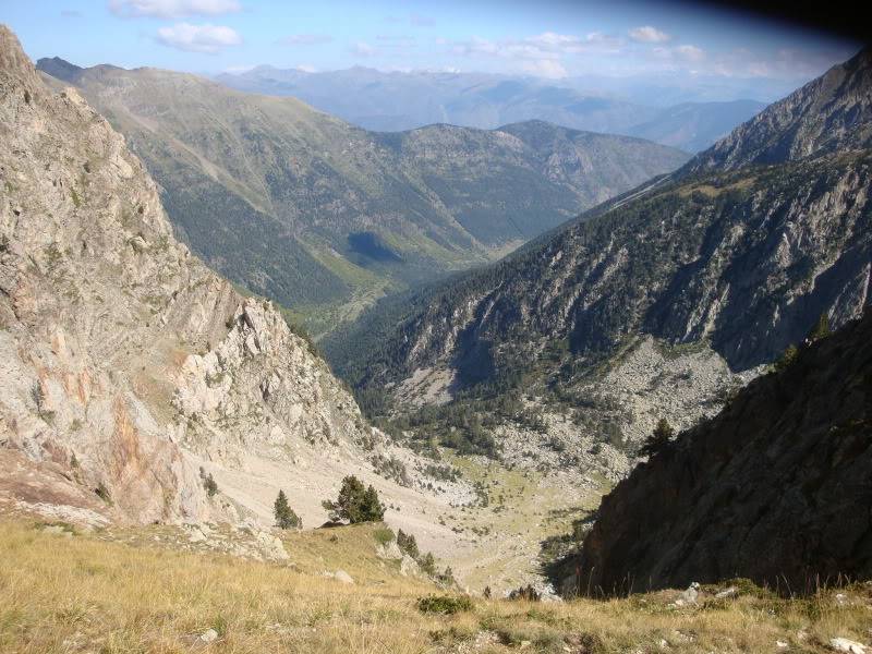
{"type": "Polygon", "coordinates": [[[868,641],[872,626],[865,585],[841,591],[843,606],[834,591],[796,601],[746,592],[676,609],[663,592],[476,600],[471,611],[425,615],[416,600],[433,586],[383,568],[371,529],[298,534],[288,547],[300,570],[0,522],[0,652],[825,652],[836,635],[868,641]],[[340,564],[356,584],[310,571],[340,564]],[[198,642],[207,629],[218,640],[198,642]]]}

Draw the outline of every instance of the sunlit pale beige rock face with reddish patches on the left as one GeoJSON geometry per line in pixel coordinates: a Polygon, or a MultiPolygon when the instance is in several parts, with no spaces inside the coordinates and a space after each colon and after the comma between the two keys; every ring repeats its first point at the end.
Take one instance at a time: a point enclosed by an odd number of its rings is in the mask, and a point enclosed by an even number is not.
{"type": "Polygon", "coordinates": [[[354,449],[351,397],[266,302],[179,244],[124,138],[0,26],[0,493],[202,519],[186,449],[354,449]]]}

